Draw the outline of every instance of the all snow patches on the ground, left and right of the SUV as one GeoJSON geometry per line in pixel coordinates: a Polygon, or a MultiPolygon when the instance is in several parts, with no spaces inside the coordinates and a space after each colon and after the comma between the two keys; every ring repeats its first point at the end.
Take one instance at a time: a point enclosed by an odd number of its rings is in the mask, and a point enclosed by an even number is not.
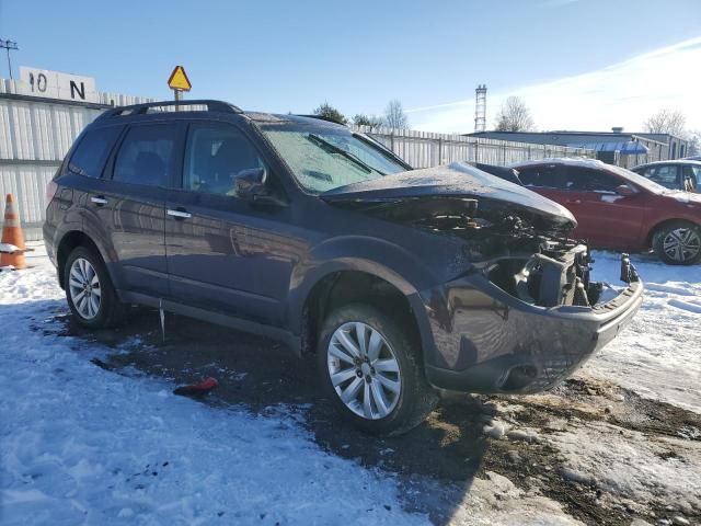
{"type": "MultiPolygon", "coordinates": [[[[212,407],[173,396],[165,379],[96,367],[90,358],[108,350],[56,335],[62,290],[42,249],[27,255],[32,268],[0,272],[0,524],[429,522],[405,511],[397,473],[320,447],[301,425],[303,408],[212,407]]],[[[597,277],[616,282],[617,256],[596,259],[597,277]]],[[[701,412],[701,267],[634,261],[645,302],[579,376],[701,412]]],[[[567,477],[633,503],[665,500],[701,514],[698,442],[573,422],[533,438],[560,451],[567,477]]],[[[450,522],[582,524],[547,490],[509,478],[475,478],[450,522]]]]}

